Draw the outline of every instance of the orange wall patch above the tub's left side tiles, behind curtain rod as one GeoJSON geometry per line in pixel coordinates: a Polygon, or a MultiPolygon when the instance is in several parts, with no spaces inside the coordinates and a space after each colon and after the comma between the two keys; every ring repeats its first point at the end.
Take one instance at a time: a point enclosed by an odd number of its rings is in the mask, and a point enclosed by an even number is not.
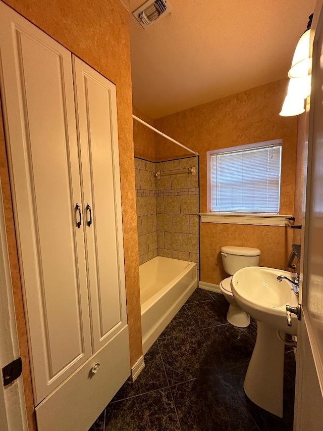
{"type": "MultiPolygon", "coordinates": [[[[133,108],[133,114],[151,126],[154,126],[154,121],[135,107],[133,108]]],[[[150,162],[155,161],[155,134],[156,132],[149,129],[149,127],[144,126],[137,120],[133,120],[133,143],[135,157],[149,160],[150,162]]]]}

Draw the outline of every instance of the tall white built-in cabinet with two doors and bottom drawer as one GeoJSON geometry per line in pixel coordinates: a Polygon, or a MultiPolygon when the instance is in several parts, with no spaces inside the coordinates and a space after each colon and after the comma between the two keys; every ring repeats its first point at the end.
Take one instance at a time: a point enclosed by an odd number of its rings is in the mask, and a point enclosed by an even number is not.
{"type": "Polygon", "coordinates": [[[87,429],[130,374],[116,88],[2,2],[0,53],[38,427],[87,429]]]}

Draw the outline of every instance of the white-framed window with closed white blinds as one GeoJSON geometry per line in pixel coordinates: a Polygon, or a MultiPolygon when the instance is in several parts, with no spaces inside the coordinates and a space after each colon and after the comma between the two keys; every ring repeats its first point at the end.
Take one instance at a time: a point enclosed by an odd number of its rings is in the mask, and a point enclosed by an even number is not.
{"type": "Polygon", "coordinates": [[[211,212],[279,214],[282,141],[209,152],[211,212]]]}

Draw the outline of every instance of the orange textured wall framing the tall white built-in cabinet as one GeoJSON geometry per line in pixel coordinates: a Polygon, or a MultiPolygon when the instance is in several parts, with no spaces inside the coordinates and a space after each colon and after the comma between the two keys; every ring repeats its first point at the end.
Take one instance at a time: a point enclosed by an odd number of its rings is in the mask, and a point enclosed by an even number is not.
{"type": "MultiPolygon", "coordinates": [[[[5,3],[117,86],[126,293],[130,360],[133,365],[142,354],[142,344],[129,13],[119,0],[7,0],[5,3]]],[[[1,124],[0,127],[2,128],[1,124]]],[[[0,157],[1,163],[6,165],[4,152],[0,157]]],[[[1,179],[3,180],[3,177],[1,179]]],[[[16,253],[16,250],[13,253],[16,253]]],[[[18,267],[16,276],[19,276],[18,267]]],[[[15,296],[15,301],[17,308],[17,303],[21,304],[21,293],[15,296]]],[[[23,312],[17,317],[23,320],[23,312]]],[[[24,337],[22,332],[19,333],[19,338],[21,337],[24,337]]],[[[25,352],[25,355],[28,356],[28,352],[25,352]]],[[[28,393],[26,400],[28,405],[28,393]]]]}

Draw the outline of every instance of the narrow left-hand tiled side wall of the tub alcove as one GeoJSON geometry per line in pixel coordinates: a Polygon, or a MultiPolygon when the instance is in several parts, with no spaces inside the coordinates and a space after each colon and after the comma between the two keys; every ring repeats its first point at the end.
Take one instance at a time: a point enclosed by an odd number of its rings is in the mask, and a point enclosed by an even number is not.
{"type": "Polygon", "coordinates": [[[155,163],[135,157],[139,265],[157,256],[155,163]]]}

